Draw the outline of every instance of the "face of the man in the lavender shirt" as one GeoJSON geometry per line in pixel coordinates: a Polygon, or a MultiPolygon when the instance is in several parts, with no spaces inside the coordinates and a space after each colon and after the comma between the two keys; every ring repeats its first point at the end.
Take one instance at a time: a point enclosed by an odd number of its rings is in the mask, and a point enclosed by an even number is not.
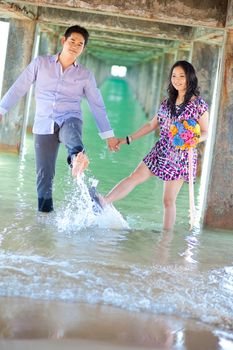
{"type": "Polygon", "coordinates": [[[63,36],[61,43],[63,45],[62,53],[75,60],[83,52],[85,40],[82,34],[72,33],[67,39],[63,36]]]}

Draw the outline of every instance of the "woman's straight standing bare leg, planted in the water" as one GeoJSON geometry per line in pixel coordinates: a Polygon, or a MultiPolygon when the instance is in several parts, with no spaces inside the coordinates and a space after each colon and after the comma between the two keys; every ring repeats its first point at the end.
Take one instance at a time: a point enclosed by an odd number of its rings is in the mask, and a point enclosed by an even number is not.
{"type": "Polygon", "coordinates": [[[176,198],[183,185],[183,180],[173,180],[164,182],[163,205],[164,217],[163,228],[170,230],[176,221],[176,198]]]}

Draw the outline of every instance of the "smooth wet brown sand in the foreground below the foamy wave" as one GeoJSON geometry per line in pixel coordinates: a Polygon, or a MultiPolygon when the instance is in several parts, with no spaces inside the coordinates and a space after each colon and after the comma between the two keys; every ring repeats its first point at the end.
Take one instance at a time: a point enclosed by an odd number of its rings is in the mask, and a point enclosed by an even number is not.
{"type": "Polygon", "coordinates": [[[105,305],[0,298],[0,349],[219,349],[201,323],[105,305]]]}

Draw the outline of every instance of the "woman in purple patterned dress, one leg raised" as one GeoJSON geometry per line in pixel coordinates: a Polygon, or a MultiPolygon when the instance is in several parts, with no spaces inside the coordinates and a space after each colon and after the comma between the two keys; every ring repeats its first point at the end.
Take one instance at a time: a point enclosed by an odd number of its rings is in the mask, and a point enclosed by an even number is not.
{"type": "MultiPolygon", "coordinates": [[[[199,95],[198,80],[193,66],[187,61],[178,61],[171,68],[168,99],[165,99],[153,119],[126,138],[120,144],[132,141],[160,127],[160,139],[145,156],[135,171],[118,183],[105,197],[103,206],[125,197],[135,186],[155,175],[164,181],[164,229],[172,229],[176,220],[176,198],[184,183],[189,181],[188,151],[177,149],[169,138],[171,124],[193,119],[201,130],[199,142],[205,141],[208,132],[208,105],[199,95]]],[[[197,169],[197,150],[193,152],[194,181],[197,169]]]]}

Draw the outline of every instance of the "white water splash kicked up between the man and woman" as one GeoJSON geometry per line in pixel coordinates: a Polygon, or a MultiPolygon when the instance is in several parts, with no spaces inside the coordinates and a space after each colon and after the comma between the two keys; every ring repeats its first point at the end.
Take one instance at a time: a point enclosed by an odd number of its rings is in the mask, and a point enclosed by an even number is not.
{"type": "Polygon", "coordinates": [[[82,230],[90,227],[102,229],[129,229],[122,215],[112,205],[101,213],[94,211],[94,203],[88,188],[96,187],[98,180],[86,178],[84,174],[74,180],[71,191],[65,198],[65,203],[58,210],[56,223],[60,231],[82,230]]]}

